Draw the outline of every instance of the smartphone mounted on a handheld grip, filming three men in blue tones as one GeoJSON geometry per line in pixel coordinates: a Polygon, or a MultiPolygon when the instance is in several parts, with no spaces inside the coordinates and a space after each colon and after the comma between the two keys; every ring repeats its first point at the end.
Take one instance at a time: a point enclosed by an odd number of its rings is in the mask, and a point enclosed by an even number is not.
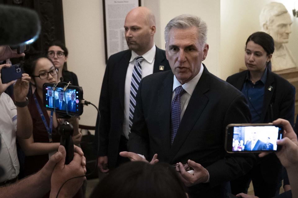
{"type": "Polygon", "coordinates": [[[48,110],[56,110],[58,114],[81,115],[83,113],[83,89],[69,85],[66,90],[63,84],[43,84],[43,105],[48,110]],[[66,111],[67,110],[67,111],[66,111]]]}

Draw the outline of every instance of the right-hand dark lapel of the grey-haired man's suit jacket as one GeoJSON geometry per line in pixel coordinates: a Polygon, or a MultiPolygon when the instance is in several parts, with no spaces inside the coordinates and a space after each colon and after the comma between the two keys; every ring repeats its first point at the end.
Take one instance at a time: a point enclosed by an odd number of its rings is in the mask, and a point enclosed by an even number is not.
{"type": "Polygon", "coordinates": [[[202,76],[192,93],[183,118],[179,124],[176,137],[169,152],[168,162],[171,162],[178,153],[208,103],[208,98],[204,95],[204,93],[209,90],[209,74],[210,73],[207,68],[204,67],[202,76]]]}

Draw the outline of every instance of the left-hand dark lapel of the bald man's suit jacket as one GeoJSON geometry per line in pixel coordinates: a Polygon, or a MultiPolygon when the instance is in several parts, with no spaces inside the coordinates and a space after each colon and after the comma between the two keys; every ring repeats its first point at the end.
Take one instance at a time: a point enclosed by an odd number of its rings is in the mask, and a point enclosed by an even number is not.
{"type": "MultiPolygon", "coordinates": [[[[118,68],[114,68],[116,70],[115,77],[118,77],[118,87],[119,87],[119,100],[122,107],[122,110],[124,110],[124,90],[125,90],[125,78],[127,73],[127,68],[129,65],[129,60],[131,58],[131,50],[128,50],[127,53],[124,54],[122,59],[120,59],[118,68]]],[[[117,67],[117,65],[115,65],[117,67]]]]}

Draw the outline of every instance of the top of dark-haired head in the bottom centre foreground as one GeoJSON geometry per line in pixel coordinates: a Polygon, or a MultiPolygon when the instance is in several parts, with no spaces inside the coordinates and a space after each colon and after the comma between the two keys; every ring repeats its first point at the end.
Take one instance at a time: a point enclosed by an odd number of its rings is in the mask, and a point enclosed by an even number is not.
{"type": "Polygon", "coordinates": [[[186,198],[186,188],[168,164],[142,161],[122,164],[103,178],[90,198],[186,198]]]}

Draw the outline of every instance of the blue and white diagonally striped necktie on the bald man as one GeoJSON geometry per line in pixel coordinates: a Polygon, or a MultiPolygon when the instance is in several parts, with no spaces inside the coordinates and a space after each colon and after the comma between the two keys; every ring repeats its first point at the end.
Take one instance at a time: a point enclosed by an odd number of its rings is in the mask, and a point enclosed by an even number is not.
{"type": "Polygon", "coordinates": [[[144,58],[139,56],[136,58],[136,64],[133,67],[133,75],[131,77],[131,85],[130,85],[130,97],[129,97],[129,128],[133,125],[133,112],[136,107],[136,95],[138,92],[139,84],[142,79],[142,67],[140,62],[142,62],[144,58]]]}

